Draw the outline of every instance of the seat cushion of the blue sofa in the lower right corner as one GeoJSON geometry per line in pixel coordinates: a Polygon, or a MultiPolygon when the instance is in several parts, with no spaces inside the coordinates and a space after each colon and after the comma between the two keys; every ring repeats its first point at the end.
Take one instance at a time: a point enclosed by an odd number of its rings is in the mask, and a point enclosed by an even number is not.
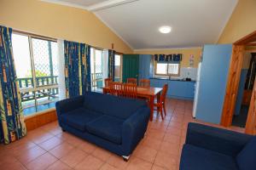
{"type": "Polygon", "coordinates": [[[183,145],[180,162],[181,170],[236,170],[236,160],[224,154],[196,147],[191,144],[183,145]]]}

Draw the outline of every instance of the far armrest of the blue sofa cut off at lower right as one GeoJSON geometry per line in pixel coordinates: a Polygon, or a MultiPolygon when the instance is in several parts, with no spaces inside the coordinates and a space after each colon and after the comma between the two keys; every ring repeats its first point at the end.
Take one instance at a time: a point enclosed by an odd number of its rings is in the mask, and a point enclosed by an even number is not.
{"type": "Polygon", "coordinates": [[[209,127],[190,122],[186,144],[193,144],[207,150],[236,156],[251,138],[251,135],[244,133],[236,133],[218,127],[209,127]]]}

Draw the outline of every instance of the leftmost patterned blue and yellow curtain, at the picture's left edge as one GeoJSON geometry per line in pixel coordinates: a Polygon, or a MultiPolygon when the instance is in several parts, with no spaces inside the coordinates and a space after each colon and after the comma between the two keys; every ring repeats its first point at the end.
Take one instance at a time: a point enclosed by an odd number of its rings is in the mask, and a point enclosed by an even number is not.
{"type": "Polygon", "coordinates": [[[0,26],[0,139],[4,144],[26,135],[11,35],[11,28],[0,26]]]}

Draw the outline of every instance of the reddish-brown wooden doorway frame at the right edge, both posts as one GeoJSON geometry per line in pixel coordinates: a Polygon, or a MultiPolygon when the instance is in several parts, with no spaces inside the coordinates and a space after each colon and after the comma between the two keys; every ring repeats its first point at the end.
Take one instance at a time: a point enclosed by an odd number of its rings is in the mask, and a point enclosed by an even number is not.
{"type": "MultiPolygon", "coordinates": [[[[246,37],[241,38],[233,44],[232,57],[230,61],[230,73],[226,87],[224,99],[224,108],[222,112],[221,125],[230,127],[233,122],[233,116],[236,108],[236,98],[241,80],[242,61],[246,52],[256,53],[256,31],[246,37]],[[247,49],[248,46],[253,48],[247,49]]],[[[255,70],[253,70],[255,71],[255,70]]],[[[253,80],[251,80],[252,82],[253,80]]],[[[256,134],[256,80],[252,82],[252,94],[247,111],[247,121],[245,125],[245,133],[256,134]]]]}

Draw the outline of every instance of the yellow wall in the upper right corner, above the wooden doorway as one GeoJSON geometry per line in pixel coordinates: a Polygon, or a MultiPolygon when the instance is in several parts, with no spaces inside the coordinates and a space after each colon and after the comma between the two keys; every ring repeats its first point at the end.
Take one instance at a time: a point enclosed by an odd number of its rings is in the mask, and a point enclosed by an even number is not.
{"type": "Polygon", "coordinates": [[[239,0],[218,43],[232,43],[256,31],[256,0],[239,0]]]}

